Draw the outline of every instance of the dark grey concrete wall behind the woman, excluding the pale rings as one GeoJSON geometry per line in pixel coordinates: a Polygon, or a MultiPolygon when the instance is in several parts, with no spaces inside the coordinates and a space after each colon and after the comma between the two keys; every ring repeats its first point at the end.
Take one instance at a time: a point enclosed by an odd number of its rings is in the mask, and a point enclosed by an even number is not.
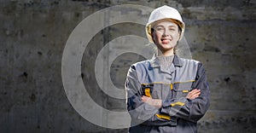
{"type": "MultiPolygon", "coordinates": [[[[185,38],[193,58],[207,69],[212,94],[199,132],[255,132],[255,0],[2,0],[0,132],[126,131],[105,129],[81,117],[67,100],[61,81],[62,52],[73,28],[100,9],[125,3],[151,8],[167,4],[183,15],[185,38]]],[[[125,101],[99,89],[93,62],[104,44],[127,34],[145,37],[144,26],[108,26],[84,51],[84,57],[90,57],[82,61],[86,88],[97,104],[110,110],[125,110],[125,101]]],[[[141,60],[131,53],[116,58],[109,65],[113,83],[122,88],[128,67],[141,60]]]]}

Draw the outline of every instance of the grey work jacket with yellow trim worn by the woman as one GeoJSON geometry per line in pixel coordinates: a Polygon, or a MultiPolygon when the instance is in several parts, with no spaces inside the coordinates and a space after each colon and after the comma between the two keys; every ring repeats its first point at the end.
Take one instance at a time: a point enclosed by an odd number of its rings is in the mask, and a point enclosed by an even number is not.
{"type": "Polygon", "coordinates": [[[156,56],[131,65],[125,81],[127,109],[131,115],[129,132],[197,132],[196,123],[207,112],[210,90],[201,62],[174,55],[172,66],[160,67],[156,56]],[[185,98],[199,89],[201,95],[185,98]],[[142,101],[142,95],[161,99],[161,108],[142,101]]]}

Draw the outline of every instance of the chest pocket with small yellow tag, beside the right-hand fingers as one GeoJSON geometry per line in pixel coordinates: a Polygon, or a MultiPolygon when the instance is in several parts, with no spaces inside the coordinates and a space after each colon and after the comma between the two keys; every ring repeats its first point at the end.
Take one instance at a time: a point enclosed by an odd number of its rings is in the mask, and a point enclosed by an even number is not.
{"type": "Polygon", "coordinates": [[[173,91],[175,92],[174,97],[186,97],[190,90],[192,90],[192,84],[194,81],[191,82],[177,82],[173,84],[173,91]]]}

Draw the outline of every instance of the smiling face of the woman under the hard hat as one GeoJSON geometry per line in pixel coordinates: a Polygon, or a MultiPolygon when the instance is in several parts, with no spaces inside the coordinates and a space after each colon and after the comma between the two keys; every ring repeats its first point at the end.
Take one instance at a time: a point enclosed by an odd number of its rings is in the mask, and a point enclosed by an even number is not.
{"type": "Polygon", "coordinates": [[[158,49],[162,53],[173,50],[180,38],[177,24],[172,21],[161,21],[153,29],[152,38],[158,49]]]}

